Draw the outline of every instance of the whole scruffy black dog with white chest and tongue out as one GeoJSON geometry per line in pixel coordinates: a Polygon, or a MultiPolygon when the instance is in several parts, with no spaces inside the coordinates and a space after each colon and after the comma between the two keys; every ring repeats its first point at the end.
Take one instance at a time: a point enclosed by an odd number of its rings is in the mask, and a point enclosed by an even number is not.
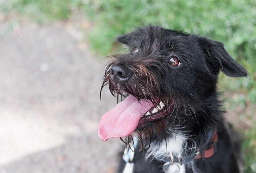
{"type": "Polygon", "coordinates": [[[111,56],[102,87],[126,99],[103,115],[98,134],[125,137],[119,172],[238,173],[216,84],[220,70],[247,72],[223,44],[154,25],[118,41],[129,53],[111,56]]]}

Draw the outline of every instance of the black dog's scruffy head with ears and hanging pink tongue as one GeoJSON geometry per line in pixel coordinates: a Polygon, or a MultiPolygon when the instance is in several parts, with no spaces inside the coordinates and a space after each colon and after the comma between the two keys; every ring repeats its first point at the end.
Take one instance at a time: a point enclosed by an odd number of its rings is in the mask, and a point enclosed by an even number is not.
{"type": "Polygon", "coordinates": [[[126,99],[102,117],[98,133],[103,140],[134,131],[141,138],[170,135],[171,127],[198,123],[197,110],[206,111],[217,98],[220,70],[231,77],[247,75],[221,42],[205,37],[147,25],[118,41],[129,51],[111,56],[102,87],[126,99]]]}

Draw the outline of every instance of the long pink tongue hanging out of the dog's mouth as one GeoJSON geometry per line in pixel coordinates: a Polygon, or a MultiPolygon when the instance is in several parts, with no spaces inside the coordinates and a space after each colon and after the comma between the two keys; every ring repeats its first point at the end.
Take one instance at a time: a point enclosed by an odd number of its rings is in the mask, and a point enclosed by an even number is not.
{"type": "Polygon", "coordinates": [[[149,100],[138,100],[129,95],[124,101],[105,113],[100,120],[98,135],[103,141],[109,138],[130,135],[139,124],[140,118],[152,107],[149,100]]]}

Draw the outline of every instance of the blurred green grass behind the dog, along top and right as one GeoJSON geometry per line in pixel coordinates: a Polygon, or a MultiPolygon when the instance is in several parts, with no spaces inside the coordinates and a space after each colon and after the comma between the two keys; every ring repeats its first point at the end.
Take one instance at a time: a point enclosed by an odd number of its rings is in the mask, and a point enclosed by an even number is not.
{"type": "MultiPolygon", "coordinates": [[[[103,55],[113,50],[118,35],[149,22],[221,41],[249,71],[249,77],[238,79],[221,74],[220,88],[236,93],[227,100],[228,108],[239,107],[240,117],[256,122],[256,0],[7,0],[0,5],[4,12],[13,9],[38,22],[68,19],[74,9],[84,11],[94,26],[91,47],[103,55]]],[[[246,172],[256,172],[256,125],[244,134],[246,172]]]]}

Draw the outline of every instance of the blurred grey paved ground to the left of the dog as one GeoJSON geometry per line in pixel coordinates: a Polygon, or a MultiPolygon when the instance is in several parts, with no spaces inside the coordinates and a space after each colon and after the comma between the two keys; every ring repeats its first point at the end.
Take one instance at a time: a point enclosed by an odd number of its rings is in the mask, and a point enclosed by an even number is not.
{"type": "Polygon", "coordinates": [[[99,99],[106,62],[81,35],[70,24],[0,16],[0,173],[115,170],[121,142],[97,135],[100,117],[115,105],[107,90],[99,99]]]}

